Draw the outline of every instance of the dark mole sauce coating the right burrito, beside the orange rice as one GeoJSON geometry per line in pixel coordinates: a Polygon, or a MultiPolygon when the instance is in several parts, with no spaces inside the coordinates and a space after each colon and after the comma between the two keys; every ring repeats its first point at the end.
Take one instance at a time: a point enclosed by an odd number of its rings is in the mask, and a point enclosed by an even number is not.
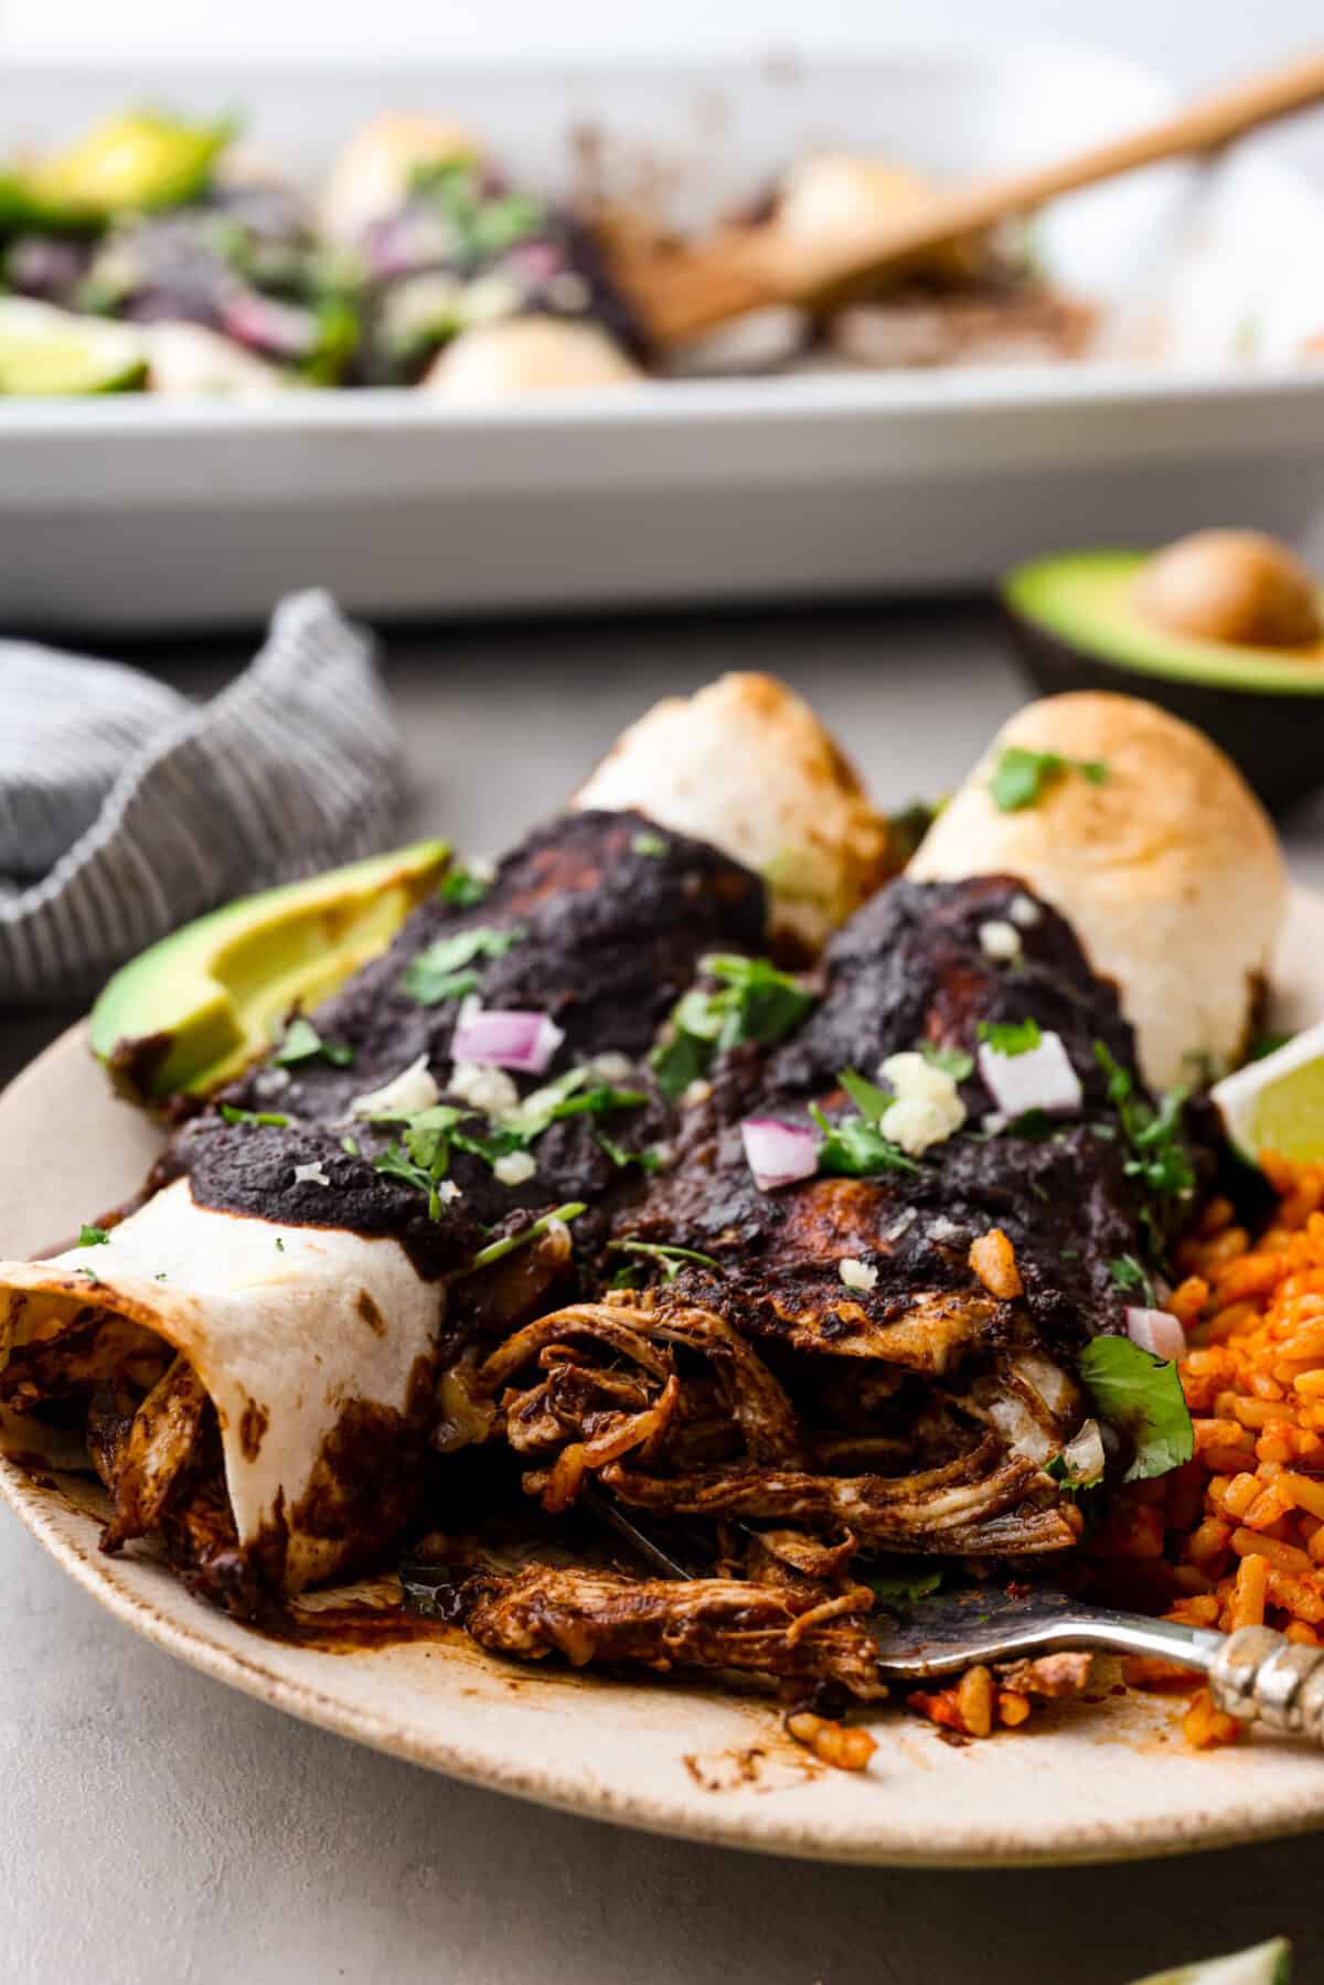
{"type": "MultiPolygon", "coordinates": [[[[887,1322],[915,1290],[969,1288],[971,1241],[1000,1227],[1042,1344],[1070,1352],[1100,1330],[1120,1330],[1125,1302],[1139,1298],[1122,1292],[1112,1264],[1153,1255],[1163,1227],[1185,1217],[1189,1195],[1181,1205],[1155,1203],[1127,1171],[1131,1153],[1096,1044],[1143,1096],[1133,1036],[1116,989],[1096,977],[1070,925],[1006,875],[895,881],[832,939],[824,975],[826,996],[790,1042],[760,1068],[742,1072],[736,1050],[719,1070],[713,1102],[687,1114],[675,1169],[629,1211],[631,1235],[723,1262],[721,1280],[683,1270],[677,1296],[725,1308],[760,1336],[780,1334],[784,1312],[814,1312],[828,1340],[854,1328],[840,1310],[887,1322]],[[1014,957],[989,953],[989,923],[1016,931],[1014,957]],[[985,1129],[996,1102],[979,1076],[979,1026],[1026,1018],[1060,1036],[1082,1108],[985,1129]],[[913,1169],[758,1191],[734,1114],[796,1124],[816,1102],[842,1120],[854,1110],[842,1070],[881,1080],[887,1056],[921,1046],[961,1050],[975,1064],[959,1084],[967,1118],[955,1135],[913,1169]],[[742,1090],[738,1112],[732,1086],[742,1090]],[[852,1251],[877,1268],[869,1290],[842,1288],[838,1262],[852,1251]]],[[[1207,1171],[1195,1114],[1185,1133],[1207,1171]]]]}

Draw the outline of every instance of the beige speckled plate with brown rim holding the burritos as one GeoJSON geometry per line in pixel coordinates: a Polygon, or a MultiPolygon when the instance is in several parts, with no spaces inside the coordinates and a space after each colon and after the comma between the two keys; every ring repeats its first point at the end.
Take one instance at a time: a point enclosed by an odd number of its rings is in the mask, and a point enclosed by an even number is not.
{"type": "MultiPolygon", "coordinates": [[[[1324,899],[1298,895],[1276,973],[1286,1024],[1324,1012],[1324,899]]],[[[32,1255],[137,1187],[157,1133],[109,1098],[83,1030],[0,1096],[0,1255],[32,1255]]],[[[0,1491],[117,1618],[310,1723],[550,1806],[693,1840],[844,1862],[1124,1860],[1324,1822],[1324,1757],[1257,1739],[1191,1755],[1163,1697],[1048,1709],[953,1749],[879,1719],[865,1775],[824,1771],[762,1703],[510,1667],[459,1636],[326,1652],[191,1600],[149,1556],[97,1552],[95,1491],[0,1461],[0,1491]]]]}

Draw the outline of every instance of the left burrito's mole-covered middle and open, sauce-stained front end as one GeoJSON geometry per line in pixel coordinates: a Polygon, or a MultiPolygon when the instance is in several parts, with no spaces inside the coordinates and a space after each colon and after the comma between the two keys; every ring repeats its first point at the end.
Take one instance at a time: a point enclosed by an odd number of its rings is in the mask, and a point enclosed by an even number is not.
{"type": "MultiPolygon", "coordinates": [[[[802,778],[774,734],[764,764],[780,794],[802,778]]],[[[437,1465],[439,1368],[574,1294],[570,1225],[601,1241],[667,1157],[659,1028],[703,959],[768,943],[717,800],[711,836],[580,810],[494,873],[453,867],[185,1122],[133,1211],[0,1264],[10,1447],[24,1419],[34,1451],[42,1425],[85,1431],[107,1548],[151,1534],[252,1614],[399,1536],[437,1465]]]]}

